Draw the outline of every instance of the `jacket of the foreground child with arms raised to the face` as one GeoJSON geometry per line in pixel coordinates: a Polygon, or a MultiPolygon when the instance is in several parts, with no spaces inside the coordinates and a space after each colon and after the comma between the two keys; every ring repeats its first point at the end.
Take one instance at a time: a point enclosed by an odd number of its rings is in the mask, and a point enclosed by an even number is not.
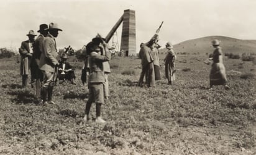
{"type": "Polygon", "coordinates": [[[109,61],[111,53],[106,51],[106,55],[100,55],[98,52],[91,52],[89,54],[89,83],[103,83],[105,82],[103,62],[109,61]]]}

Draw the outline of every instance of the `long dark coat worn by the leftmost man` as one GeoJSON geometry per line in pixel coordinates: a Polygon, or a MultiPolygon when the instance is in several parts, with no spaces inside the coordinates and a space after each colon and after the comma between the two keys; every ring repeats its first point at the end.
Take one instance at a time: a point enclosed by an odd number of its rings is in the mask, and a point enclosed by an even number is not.
{"type": "MultiPolygon", "coordinates": [[[[30,70],[30,62],[31,62],[31,57],[27,55],[29,53],[29,40],[22,41],[21,43],[21,48],[19,48],[19,53],[21,54],[21,75],[29,75],[29,70],[30,70]]],[[[31,42],[31,44],[33,44],[31,42]]]]}

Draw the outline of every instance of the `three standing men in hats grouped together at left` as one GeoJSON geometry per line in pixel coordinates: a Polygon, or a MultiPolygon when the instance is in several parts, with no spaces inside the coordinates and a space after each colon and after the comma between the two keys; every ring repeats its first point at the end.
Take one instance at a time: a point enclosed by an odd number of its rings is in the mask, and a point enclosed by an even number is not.
{"type": "Polygon", "coordinates": [[[57,69],[60,62],[57,60],[57,45],[55,38],[58,36],[57,23],[45,23],[39,26],[37,32],[40,35],[35,39],[35,32],[29,31],[29,40],[22,41],[19,53],[21,54],[22,86],[27,86],[29,72],[31,74],[31,86],[34,87],[37,103],[52,103],[53,86],[57,78],[57,69]]]}

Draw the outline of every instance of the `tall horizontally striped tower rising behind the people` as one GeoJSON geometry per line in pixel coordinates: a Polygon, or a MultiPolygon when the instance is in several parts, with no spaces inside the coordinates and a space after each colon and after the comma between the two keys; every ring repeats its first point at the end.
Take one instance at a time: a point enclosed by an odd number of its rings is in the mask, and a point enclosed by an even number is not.
{"type": "Polygon", "coordinates": [[[136,55],[135,10],[124,10],[122,22],[121,51],[126,56],[136,55]]]}

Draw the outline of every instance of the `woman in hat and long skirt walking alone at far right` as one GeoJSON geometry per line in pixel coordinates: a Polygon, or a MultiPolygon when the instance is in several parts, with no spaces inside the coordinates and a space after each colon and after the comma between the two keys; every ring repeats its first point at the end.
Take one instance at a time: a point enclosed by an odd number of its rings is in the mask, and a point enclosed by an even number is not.
{"type": "Polygon", "coordinates": [[[209,58],[213,60],[211,72],[210,72],[210,88],[209,90],[213,90],[213,85],[224,85],[224,88],[227,90],[229,86],[227,85],[227,76],[226,69],[223,65],[222,60],[222,50],[219,46],[221,41],[213,40],[213,57],[209,58]]]}

